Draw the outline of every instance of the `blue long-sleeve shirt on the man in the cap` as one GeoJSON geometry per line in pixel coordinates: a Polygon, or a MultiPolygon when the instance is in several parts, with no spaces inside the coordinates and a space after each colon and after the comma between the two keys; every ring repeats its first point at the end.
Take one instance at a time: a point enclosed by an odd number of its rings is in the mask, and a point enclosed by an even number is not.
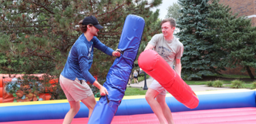
{"type": "Polygon", "coordinates": [[[93,47],[105,52],[107,55],[112,55],[112,52],[114,51],[100,42],[96,36],[88,42],[86,36],[82,34],[79,36],[79,39],[76,40],[75,44],[72,45],[61,75],[66,79],[83,79],[93,84],[96,79],[89,72],[89,69],[93,64],[93,47]]]}

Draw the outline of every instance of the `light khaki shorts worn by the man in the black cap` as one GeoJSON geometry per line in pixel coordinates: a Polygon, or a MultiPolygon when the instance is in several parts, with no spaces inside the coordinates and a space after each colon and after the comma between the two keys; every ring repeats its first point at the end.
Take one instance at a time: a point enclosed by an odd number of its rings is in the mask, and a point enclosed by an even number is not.
{"type": "Polygon", "coordinates": [[[92,89],[83,81],[81,82],[76,78],[74,81],[66,79],[64,76],[59,75],[59,84],[66,95],[68,101],[80,101],[93,95],[92,89]]]}

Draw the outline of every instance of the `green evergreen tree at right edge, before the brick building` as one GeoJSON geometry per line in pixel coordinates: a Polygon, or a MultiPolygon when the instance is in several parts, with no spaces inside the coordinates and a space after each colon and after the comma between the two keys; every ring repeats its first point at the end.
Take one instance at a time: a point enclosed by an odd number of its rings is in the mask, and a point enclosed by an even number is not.
{"type": "Polygon", "coordinates": [[[219,4],[219,0],[211,3],[211,14],[207,18],[211,30],[204,32],[204,36],[211,38],[215,49],[223,51],[219,54],[222,65],[231,68],[241,65],[254,79],[250,68],[256,68],[256,27],[251,27],[251,19],[233,15],[231,8],[219,4]]]}

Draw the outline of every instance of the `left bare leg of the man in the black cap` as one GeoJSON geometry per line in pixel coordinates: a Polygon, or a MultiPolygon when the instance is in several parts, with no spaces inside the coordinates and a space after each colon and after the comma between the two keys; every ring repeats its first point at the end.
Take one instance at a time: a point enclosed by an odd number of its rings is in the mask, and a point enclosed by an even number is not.
{"type": "Polygon", "coordinates": [[[72,122],[72,119],[74,116],[76,116],[76,113],[80,109],[80,102],[76,101],[69,101],[70,109],[69,112],[66,113],[66,116],[63,120],[63,124],[69,124],[72,122]]]}

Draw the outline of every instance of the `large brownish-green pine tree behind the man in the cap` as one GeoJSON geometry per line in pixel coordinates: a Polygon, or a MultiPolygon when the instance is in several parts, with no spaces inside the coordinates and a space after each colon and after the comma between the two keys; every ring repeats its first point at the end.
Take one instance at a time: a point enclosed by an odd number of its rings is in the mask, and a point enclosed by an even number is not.
{"type": "MultiPolygon", "coordinates": [[[[0,52],[10,60],[19,61],[10,66],[13,72],[47,73],[58,76],[62,71],[69,49],[82,32],[78,22],[94,15],[104,28],[99,40],[116,49],[125,18],[129,14],[140,15],[146,20],[142,42],[159,32],[155,27],[157,12],[150,8],[162,0],[9,0],[0,3],[0,52]],[[22,64],[21,64],[22,63],[22,64]]],[[[98,79],[106,79],[114,57],[96,50],[90,70],[98,79]]],[[[2,65],[5,66],[5,65],[2,65]]],[[[102,82],[103,83],[103,82],[102,82]]]]}

